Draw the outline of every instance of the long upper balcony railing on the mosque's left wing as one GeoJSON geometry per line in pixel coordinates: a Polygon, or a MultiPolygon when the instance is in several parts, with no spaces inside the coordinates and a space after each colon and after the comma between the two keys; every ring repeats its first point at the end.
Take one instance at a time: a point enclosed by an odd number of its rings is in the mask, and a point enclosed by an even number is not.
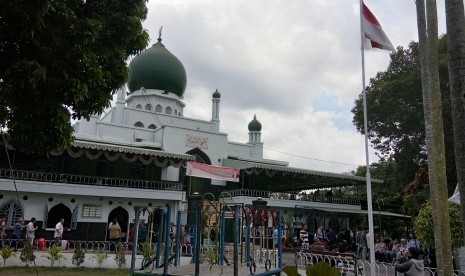
{"type": "Polygon", "coordinates": [[[141,179],[122,179],[112,177],[100,177],[89,175],[75,175],[53,172],[24,171],[0,169],[0,178],[17,180],[28,180],[37,182],[55,182],[69,183],[92,186],[110,186],[135,189],[152,189],[152,190],[172,190],[182,191],[183,185],[180,182],[171,181],[148,181],[141,179]]]}

